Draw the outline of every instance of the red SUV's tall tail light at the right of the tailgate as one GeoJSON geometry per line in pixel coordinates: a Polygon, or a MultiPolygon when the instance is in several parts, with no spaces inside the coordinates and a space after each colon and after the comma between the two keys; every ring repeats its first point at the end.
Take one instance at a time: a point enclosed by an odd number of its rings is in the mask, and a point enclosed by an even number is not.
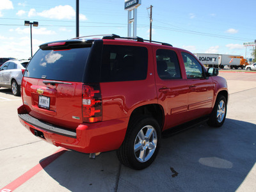
{"type": "Polygon", "coordinates": [[[100,85],[83,84],[83,122],[102,121],[102,99],[100,85]]]}

